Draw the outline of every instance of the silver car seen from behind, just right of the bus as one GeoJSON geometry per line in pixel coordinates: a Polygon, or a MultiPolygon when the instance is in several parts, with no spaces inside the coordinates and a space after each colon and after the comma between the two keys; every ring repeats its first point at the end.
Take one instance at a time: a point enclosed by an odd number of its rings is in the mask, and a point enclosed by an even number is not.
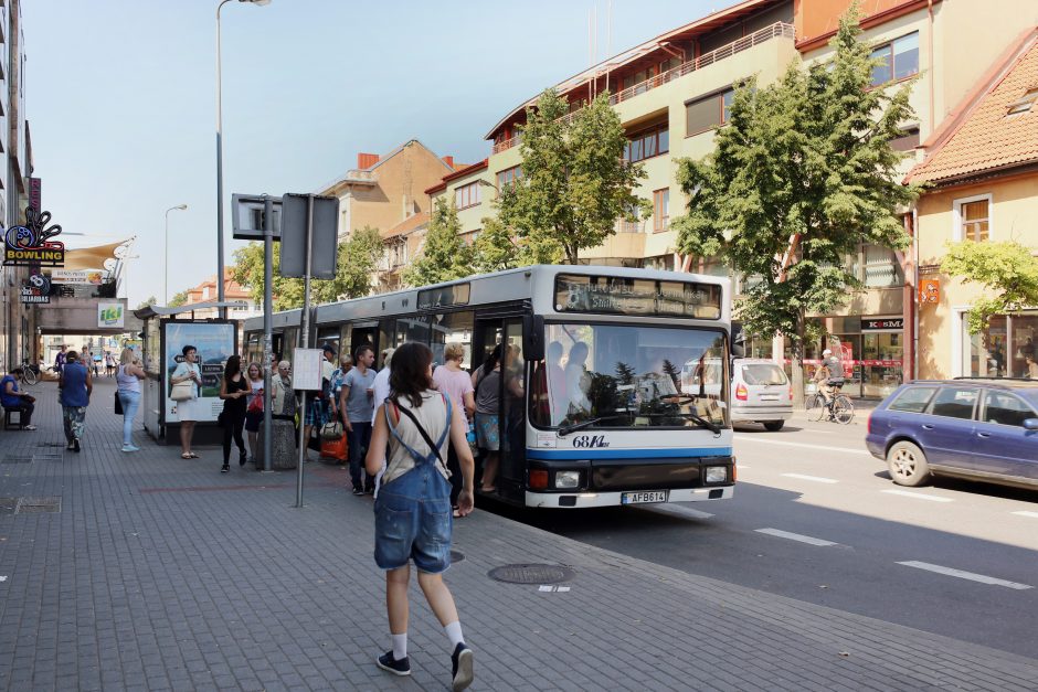
{"type": "Polygon", "coordinates": [[[781,430],[793,417],[793,386],[774,361],[737,358],[732,361],[732,423],[763,423],[781,430]]]}

